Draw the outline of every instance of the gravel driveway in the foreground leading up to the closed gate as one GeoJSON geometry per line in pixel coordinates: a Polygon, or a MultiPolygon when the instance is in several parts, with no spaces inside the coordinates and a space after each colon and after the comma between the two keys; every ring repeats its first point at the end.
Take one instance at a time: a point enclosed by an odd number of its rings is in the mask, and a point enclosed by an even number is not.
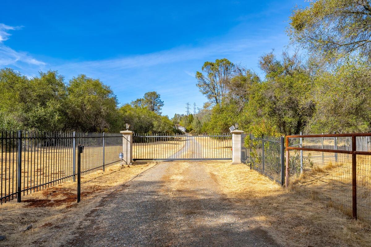
{"type": "Polygon", "coordinates": [[[66,246],[279,246],[202,162],[162,162],[102,198],[66,246]]]}

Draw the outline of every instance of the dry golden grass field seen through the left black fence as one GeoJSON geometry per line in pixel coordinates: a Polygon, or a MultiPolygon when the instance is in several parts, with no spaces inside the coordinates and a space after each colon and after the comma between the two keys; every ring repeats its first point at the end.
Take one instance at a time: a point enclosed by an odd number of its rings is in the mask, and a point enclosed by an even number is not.
{"type": "MultiPolygon", "coordinates": [[[[120,146],[105,148],[105,164],[118,160],[120,146]]],[[[102,170],[102,147],[86,147],[81,154],[81,171],[102,170]]],[[[0,154],[1,163],[1,197],[15,193],[17,181],[17,153],[0,154]]],[[[77,154],[76,154],[77,157],[77,154]]],[[[76,158],[77,159],[77,158],[76,158]]],[[[109,167],[109,165],[106,165],[109,167]]],[[[77,171],[77,161],[76,161],[77,171]]],[[[22,189],[23,194],[33,193],[40,189],[55,186],[58,183],[72,180],[73,154],[72,148],[39,148],[32,152],[22,152],[22,189]],[[70,176],[70,177],[69,177],[70,176]],[[56,181],[57,180],[57,181],[56,181]],[[49,183],[51,182],[51,183],[49,183]],[[40,184],[45,184],[39,186],[40,184]],[[32,188],[32,189],[31,189],[32,188]]],[[[10,198],[12,200],[13,197],[10,198]]],[[[14,197],[15,198],[15,197],[14,197]]],[[[3,200],[4,202],[5,200],[3,200]]]]}

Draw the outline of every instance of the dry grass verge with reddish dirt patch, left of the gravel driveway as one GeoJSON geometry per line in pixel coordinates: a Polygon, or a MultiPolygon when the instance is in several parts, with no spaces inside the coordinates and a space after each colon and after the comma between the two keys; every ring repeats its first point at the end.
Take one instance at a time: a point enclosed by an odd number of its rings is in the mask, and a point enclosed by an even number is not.
{"type": "Polygon", "coordinates": [[[130,167],[114,165],[105,173],[97,171],[82,177],[81,202],[76,203],[76,183],[71,181],[10,201],[0,207],[0,232],[6,236],[0,246],[60,246],[76,226],[87,225],[85,215],[117,186],[131,180],[156,163],[130,167]],[[31,230],[24,229],[33,225],[31,230]]]}

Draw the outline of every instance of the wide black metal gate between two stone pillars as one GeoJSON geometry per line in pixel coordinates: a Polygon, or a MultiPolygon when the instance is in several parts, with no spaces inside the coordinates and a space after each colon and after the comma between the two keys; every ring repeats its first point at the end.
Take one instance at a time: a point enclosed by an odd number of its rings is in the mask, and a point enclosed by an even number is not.
{"type": "Polygon", "coordinates": [[[133,160],[232,160],[232,135],[134,134],[133,160]]]}

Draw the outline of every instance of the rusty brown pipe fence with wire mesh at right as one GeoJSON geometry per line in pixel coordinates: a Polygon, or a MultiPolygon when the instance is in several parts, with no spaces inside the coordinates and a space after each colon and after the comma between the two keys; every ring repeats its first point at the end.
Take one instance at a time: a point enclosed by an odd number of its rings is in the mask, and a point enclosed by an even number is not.
{"type": "Polygon", "coordinates": [[[286,186],[371,221],[371,133],[286,136],[286,186]]]}

